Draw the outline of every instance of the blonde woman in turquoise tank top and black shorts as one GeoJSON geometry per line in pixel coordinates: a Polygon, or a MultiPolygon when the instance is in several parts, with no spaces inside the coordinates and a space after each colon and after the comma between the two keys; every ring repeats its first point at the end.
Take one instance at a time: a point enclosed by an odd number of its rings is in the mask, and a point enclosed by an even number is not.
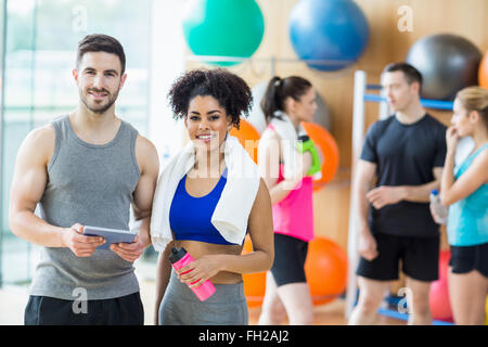
{"type": "Polygon", "coordinates": [[[446,133],[447,156],[440,201],[449,206],[447,221],[449,297],[457,324],[485,324],[488,293],[488,90],[459,91],[451,127],[446,133]],[[454,168],[460,138],[472,137],[474,149],[454,168]]]}

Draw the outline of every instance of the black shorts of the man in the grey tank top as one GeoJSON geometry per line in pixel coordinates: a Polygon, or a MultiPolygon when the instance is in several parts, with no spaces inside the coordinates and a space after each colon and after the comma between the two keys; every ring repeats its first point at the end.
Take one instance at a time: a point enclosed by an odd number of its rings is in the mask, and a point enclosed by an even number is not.
{"type": "Polygon", "coordinates": [[[30,296],[25,325],[143,325],[144,309],[138,293],[103,300],[81,301],[30,296]]]}

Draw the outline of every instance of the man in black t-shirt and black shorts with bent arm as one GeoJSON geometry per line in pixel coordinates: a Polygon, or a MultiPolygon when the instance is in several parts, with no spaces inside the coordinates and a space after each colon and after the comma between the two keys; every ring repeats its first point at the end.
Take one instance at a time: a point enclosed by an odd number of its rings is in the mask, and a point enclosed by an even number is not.
{"type": "Polygon", "coordinates": [[[428,201],[431,191],[439,188],[446,127],[422,107],[422,75],[413,66],[386,66],[382,86],[395,114],[370,127],[357,165],[360,295],[349,324],[376,322],[385,292],[398,279],[400,260],[412,313],[409,324],[432,324],[428,294],[438,277],[439,231],[428,201]]]}

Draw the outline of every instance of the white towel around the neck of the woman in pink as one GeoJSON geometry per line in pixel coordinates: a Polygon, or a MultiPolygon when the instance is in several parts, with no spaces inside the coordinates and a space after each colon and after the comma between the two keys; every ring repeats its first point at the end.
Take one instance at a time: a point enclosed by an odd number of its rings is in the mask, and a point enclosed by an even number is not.
{"type": "MultiPolygon", "coordinates": [[[[285,179],[292,179],[295,176],[301,177],[303,154],[297,150],[297,141],[298,134],[306,134],[306,132],[301,128],[301,125],[297,132],[292,120],[285,113],[277,111],[274,114],[281,117],[281,119],[273,117],[270,124],[281,138],[281,151],[284,165],[283,176],[285,179]]],[[[293,188],[291,187],[291,189],[293,188]]]]}

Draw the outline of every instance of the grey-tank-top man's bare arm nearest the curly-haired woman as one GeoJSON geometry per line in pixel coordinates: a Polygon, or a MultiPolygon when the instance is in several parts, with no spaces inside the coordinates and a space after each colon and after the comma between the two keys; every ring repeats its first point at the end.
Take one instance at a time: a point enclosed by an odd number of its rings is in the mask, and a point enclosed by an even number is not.
{"type": "Polygon", "coordinates": [[[141,171],[138,185],[133,192],[132,210],[138,235],[131,244],[113,244],[111,249],[127,261],[138,259],[144,248],[151,244],[150,223],[154,191],[159,174],[159,159],[155,146],[147,139],[138,136],[136,141],[136,158],[141,171]]]}

